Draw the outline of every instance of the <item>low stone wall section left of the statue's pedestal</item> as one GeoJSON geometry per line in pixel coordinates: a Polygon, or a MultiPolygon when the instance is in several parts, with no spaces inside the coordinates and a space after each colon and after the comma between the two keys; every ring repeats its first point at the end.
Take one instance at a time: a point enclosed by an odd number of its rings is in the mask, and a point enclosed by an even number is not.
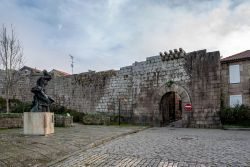
{"type": "Polygon", "coordinates": [[[0,114],[0,128],[23,127],[23,114],[0,114]]]}

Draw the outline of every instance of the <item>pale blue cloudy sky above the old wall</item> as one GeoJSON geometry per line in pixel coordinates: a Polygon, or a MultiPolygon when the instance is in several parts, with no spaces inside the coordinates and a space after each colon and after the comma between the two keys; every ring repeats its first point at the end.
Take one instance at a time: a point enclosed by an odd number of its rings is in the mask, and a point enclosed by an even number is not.
{"type": "Polygon", "coordinates": [[[160,51],[250,49],[248,0],[0,0],[27,66],[75,73],[119,69],[160,51]]]}

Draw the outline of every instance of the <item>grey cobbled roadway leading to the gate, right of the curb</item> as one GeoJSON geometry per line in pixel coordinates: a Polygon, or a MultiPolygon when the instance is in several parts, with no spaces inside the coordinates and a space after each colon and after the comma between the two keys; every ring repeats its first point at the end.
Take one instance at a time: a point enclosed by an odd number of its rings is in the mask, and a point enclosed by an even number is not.
{"type": "Polygon", "coordinates": [[[151,128],[52,166],[250,167],[250,131],[151,128]]]}

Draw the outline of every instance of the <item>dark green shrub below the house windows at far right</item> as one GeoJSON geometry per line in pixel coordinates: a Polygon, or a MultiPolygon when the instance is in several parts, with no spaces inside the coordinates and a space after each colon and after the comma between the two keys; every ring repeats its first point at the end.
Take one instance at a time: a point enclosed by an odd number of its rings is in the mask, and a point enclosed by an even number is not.
{"type": "Polygon", "coordinates": [[[250,107],[246,105],[236,105],[235,107],[223,107],[220,112],[223,124],[249,124],[250,107]]]}

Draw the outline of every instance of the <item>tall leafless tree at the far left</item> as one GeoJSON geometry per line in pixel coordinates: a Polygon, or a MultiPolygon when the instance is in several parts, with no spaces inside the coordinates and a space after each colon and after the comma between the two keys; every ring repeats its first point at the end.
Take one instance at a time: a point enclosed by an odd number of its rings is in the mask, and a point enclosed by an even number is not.
{"type": "Polygon", "coordinates": [[[5,89],[6,111],[9,113],[9,100],[12,96],[13,86],[16,83],[17,72],[23,64],[23,49],[12,26],[9,34],[4,25],[0,31],[0,63],[2,63],[5,72],[5,81],[3,84],[5,89]]]}

